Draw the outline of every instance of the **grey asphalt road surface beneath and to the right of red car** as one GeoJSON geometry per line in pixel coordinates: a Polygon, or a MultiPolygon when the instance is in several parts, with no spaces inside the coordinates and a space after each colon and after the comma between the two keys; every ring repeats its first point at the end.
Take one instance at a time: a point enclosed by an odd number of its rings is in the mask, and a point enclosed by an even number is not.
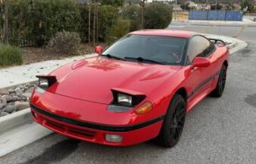
{"type": "Polygon", "coordinates": [[[187,114],[176,147],[164,149],[151,141],[107,147],[54,134],[2,157],[0,163],[256,163],[256,27],[173,24],[170,28],[220,32],[248,42],[248,48],[230,57],[223,97],[207,97],[187,114]]]}

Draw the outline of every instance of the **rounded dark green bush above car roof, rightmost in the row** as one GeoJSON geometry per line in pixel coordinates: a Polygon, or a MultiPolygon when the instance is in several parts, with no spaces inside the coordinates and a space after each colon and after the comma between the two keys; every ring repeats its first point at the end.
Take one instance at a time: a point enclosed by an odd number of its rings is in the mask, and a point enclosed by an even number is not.
{"type": "Polygon", "coordinates": [[[172,6],[164,3],[151,3],[145,7],[145,28],[164,29],[172,20],[172,6]]]}

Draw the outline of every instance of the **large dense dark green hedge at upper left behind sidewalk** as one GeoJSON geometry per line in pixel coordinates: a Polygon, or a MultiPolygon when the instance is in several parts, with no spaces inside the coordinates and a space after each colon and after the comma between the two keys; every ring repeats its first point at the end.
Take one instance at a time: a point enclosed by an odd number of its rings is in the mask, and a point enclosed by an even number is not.
{"type": "Polygon", "coordinates": [[[73,0],[12,0],[8,14],[10,42],[23,39],[44,45],[58,31],[80,29],[80,4],[73,0]]]}

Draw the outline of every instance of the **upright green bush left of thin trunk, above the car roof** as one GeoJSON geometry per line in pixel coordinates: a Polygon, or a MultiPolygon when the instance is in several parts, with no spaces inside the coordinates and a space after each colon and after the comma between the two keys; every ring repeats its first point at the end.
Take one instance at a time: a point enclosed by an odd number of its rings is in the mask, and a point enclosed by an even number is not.
{"type": "Polygon", "coordinates": [[[138,5],[127,5],[123,7],[121,15],[123,19],[130,20],[130,31],[139,29],[140,8],[138,5]]]}

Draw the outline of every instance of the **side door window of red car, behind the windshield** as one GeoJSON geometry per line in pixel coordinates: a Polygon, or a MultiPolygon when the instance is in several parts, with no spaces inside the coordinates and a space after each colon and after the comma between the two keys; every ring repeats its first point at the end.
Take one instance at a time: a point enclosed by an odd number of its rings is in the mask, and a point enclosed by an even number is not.
{"type": "Polygon", "coordinates": [[[188,62],[192,63],[195,57],[208,57],[215,49],[215,45],[202,36],[194,36],[189,42],[188,62]]]}

